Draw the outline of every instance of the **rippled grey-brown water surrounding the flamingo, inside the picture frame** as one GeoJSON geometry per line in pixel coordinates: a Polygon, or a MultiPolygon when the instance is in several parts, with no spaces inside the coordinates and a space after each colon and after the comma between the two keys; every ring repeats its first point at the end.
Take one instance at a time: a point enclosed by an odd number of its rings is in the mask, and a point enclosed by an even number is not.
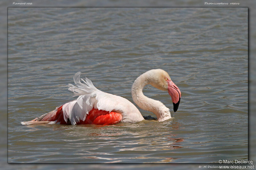
{"type": "Polygon", "coordinates": [[[8,8],[9,163],[219,159],[248,159],[247,8],[8,8]],[[72,100],[63,86],[77,71],[132,101],[133,81],[156,68],[180,88],[178,111],[167,92],[143,92],[170,120],[20,124],[72,100]]]}

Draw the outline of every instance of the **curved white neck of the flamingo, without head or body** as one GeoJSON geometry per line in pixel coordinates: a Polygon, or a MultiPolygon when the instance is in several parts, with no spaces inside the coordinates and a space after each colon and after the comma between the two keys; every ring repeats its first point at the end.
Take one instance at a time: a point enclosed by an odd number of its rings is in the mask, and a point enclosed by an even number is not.
{"type": "Polygon", "coordinates": [[[142,89],[145,85],[154,82],[154,75],[142,74],[138,77],[132,85],[132,99],[143,110],[153,112],[157,116],[158,121],[164,121],[171,118],[169,108],[165,107],[163,103],[158,100],[153,100],[146,97],[142,89]]]}

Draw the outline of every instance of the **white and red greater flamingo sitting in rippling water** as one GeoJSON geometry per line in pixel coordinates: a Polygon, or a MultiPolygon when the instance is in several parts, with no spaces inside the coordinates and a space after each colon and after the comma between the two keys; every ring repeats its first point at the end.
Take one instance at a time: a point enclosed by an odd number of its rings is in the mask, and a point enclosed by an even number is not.
{"type": "MultiPolygon", "coordinates": [[[[88,78],[80,79],[81,72],[74,75],[75,85],[68,84],[68,90],[79,96],[55,110],[46,113],[32,121],[21,124],[57,123],[57,124],[100,124],[110,125],[119,122],[136,123],[144,120],[140,111],[129,100],[123,97],[98,90],[88,78]],[[81,82],[81,81],[82,82],[81,82]]],[[[157,121],[171,118],[169,108],[157,100],[143,95],[145,85],[152,85],[159,90],[168,91],[172,98],[173,111],[176,112],[181,92],[172,82],[169,74],[161,69],[149,70],[140,75],[132,85],[132,99],[142,109],[153,112],[157,121]]]]}

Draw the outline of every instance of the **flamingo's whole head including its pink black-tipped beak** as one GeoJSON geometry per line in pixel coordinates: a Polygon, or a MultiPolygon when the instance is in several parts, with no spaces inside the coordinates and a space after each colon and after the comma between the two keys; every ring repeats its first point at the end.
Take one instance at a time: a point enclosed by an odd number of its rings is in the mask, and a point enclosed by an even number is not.
{"type": "Polygon", "coordinates": [[[176,112],[180,104],[180,89],[172,82],[169,74],[164,70],[156,69],[153,77],[154,80],[151,85],[159,90],[168,91],[172,98],[173,111],[176,112]]]}

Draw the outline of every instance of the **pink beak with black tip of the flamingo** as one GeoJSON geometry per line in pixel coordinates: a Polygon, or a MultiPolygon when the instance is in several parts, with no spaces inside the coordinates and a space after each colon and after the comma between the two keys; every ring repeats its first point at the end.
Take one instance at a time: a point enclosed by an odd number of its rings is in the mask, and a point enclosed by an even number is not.
{"type": "Polygon", "coordinates": [[[167,80],[168,82],[168,93],[172,98],[173,111],[178,110],[180,104],[181,92],[180,89],[172,82],[172,80],[167,80]]]}

